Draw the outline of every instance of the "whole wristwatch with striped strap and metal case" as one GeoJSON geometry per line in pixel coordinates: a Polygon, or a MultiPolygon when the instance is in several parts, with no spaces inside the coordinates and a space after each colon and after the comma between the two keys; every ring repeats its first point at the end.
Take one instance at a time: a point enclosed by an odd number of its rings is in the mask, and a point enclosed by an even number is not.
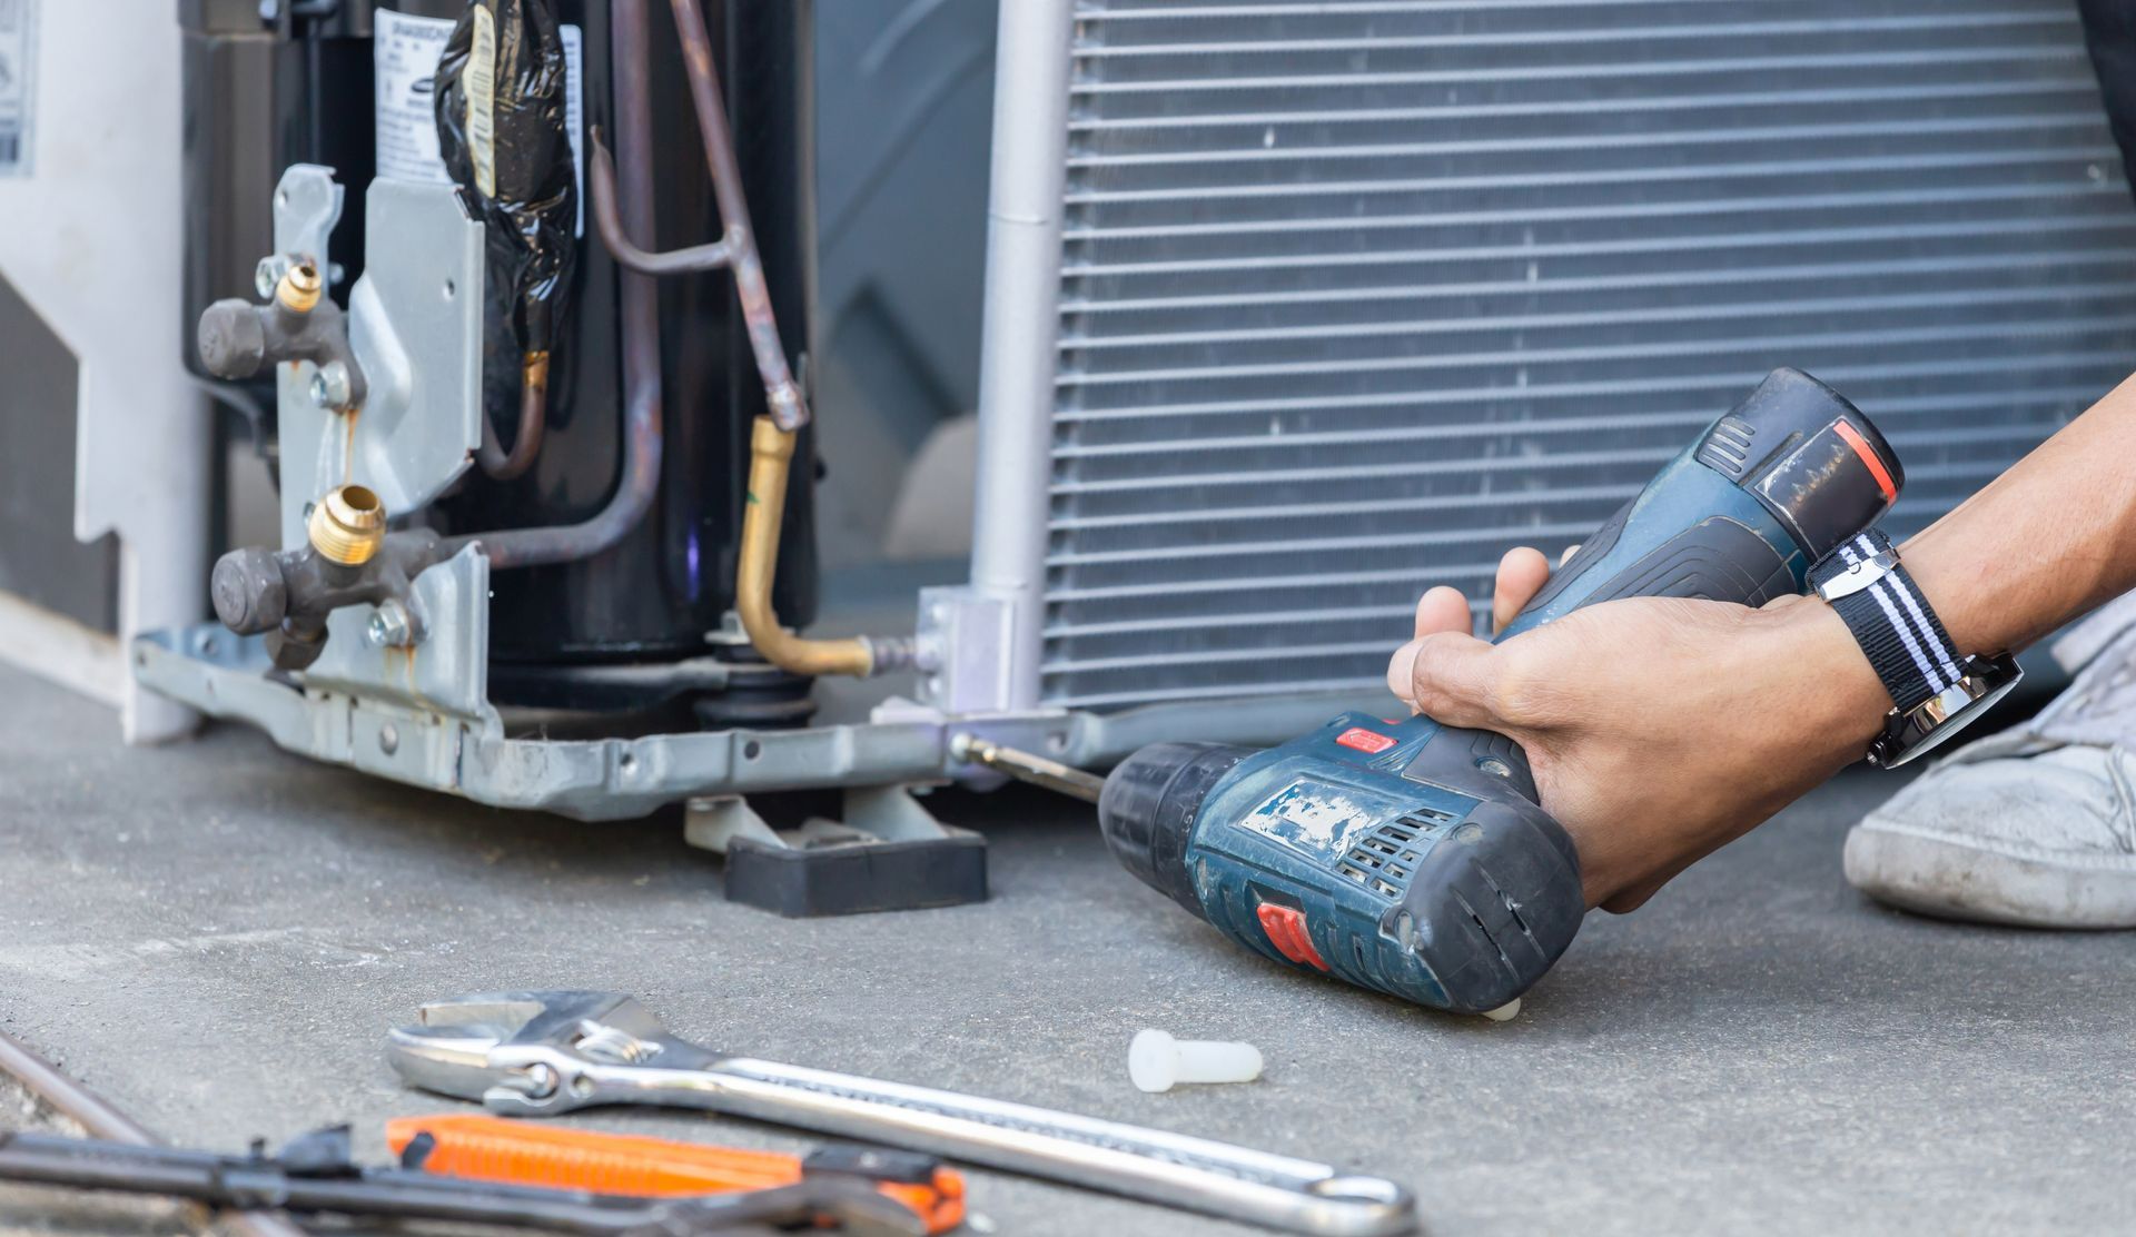
{"type": "Polygon", "coordinates": [[[1869,763],[1880,769],[1957,735],[2023,677],[2010,654],[1959,656],[1950,647],[1950,632],[1882,532],[1841,541],[1809,568],[1809,583],[1846,620],[1890,692],[1884,733],[1869,743],[1869,763]]]}

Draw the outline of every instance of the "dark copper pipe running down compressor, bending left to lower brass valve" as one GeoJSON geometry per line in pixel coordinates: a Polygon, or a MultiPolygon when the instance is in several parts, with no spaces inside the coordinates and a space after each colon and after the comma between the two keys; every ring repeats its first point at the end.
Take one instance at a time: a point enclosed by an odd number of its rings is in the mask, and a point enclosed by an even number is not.
{"type": "MultiPolygon", "coordinates": [[[[611,73],[615,77],[615,147],[622,160],[622,197],[628,231],[654,235],[654,113],[645,92],[649,41],[645,0],[615,0],[611,73]]],[[[624,538],[651,508],[660,487],[660,301],[651,276],[617,271],[624,333],[624,474],[592,519],[553,528],[472,532],[442,541],[446,560],[466,545],[481,545],[491,568],[545,566],[592,558],[624,538]]]]}

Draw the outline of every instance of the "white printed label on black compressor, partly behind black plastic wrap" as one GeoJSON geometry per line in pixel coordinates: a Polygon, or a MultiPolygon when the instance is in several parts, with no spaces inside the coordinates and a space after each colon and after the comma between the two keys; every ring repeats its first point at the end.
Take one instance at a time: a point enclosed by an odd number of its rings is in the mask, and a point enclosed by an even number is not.
{"type": "MultiPolygon", "coordinates": [[[[0,6],[23,0],[0,0],[0,6]]],[[[579,184],[577,233],[585,235],[585,103],[581,64],[585,36],[577,26],[562,26],[564,36],[564,122],[570,130],[570,165],[579,184]]],[[[438,158],[438,58],[453,34],[449,17],[410,17],[378,9],[372,19],[372,68],[378,111],[378,175],[399,179],[451,182],[438,158]]],[[[496,38],[489,41],[496,47],[496,38]]],[[[496,56],[491,51],[491,56],[496,56]]],[[[483,71],[493,75],[493,66],[483,71]]]]}

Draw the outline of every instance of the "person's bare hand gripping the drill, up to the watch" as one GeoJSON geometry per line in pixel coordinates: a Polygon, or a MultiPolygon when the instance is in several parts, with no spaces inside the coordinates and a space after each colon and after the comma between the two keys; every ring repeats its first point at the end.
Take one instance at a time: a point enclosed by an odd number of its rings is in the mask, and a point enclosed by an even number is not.
{"type": "MultiPolygon", "coordinates": [[[[1549,575],[1540,551],[1510,551],[1493,630],[1549,575]]],[[[1611,600],[1491,645],[1442,585],[1386,682],[1420,714],[1519,741],[1587,904],[1617,912],[1858,761],[1890,709],[1839,615],[1796,596],[1611,600]]]]}

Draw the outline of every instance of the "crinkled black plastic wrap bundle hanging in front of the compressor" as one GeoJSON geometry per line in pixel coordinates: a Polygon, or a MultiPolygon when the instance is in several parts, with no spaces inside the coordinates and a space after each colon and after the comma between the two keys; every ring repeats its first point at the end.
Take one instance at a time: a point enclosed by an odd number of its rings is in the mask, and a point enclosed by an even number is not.
{"type": "Polygon", "coordinates": [[[438,154],[487,231],[485,404],[519,385],[568,310],[579,186],[564,36],[549,0],[476,0],[438,60],[438,154]],[[481,47],[476,43],[481,41],[481,47]],[[487,111],[481,103],[487,94],[487,111]]]}

